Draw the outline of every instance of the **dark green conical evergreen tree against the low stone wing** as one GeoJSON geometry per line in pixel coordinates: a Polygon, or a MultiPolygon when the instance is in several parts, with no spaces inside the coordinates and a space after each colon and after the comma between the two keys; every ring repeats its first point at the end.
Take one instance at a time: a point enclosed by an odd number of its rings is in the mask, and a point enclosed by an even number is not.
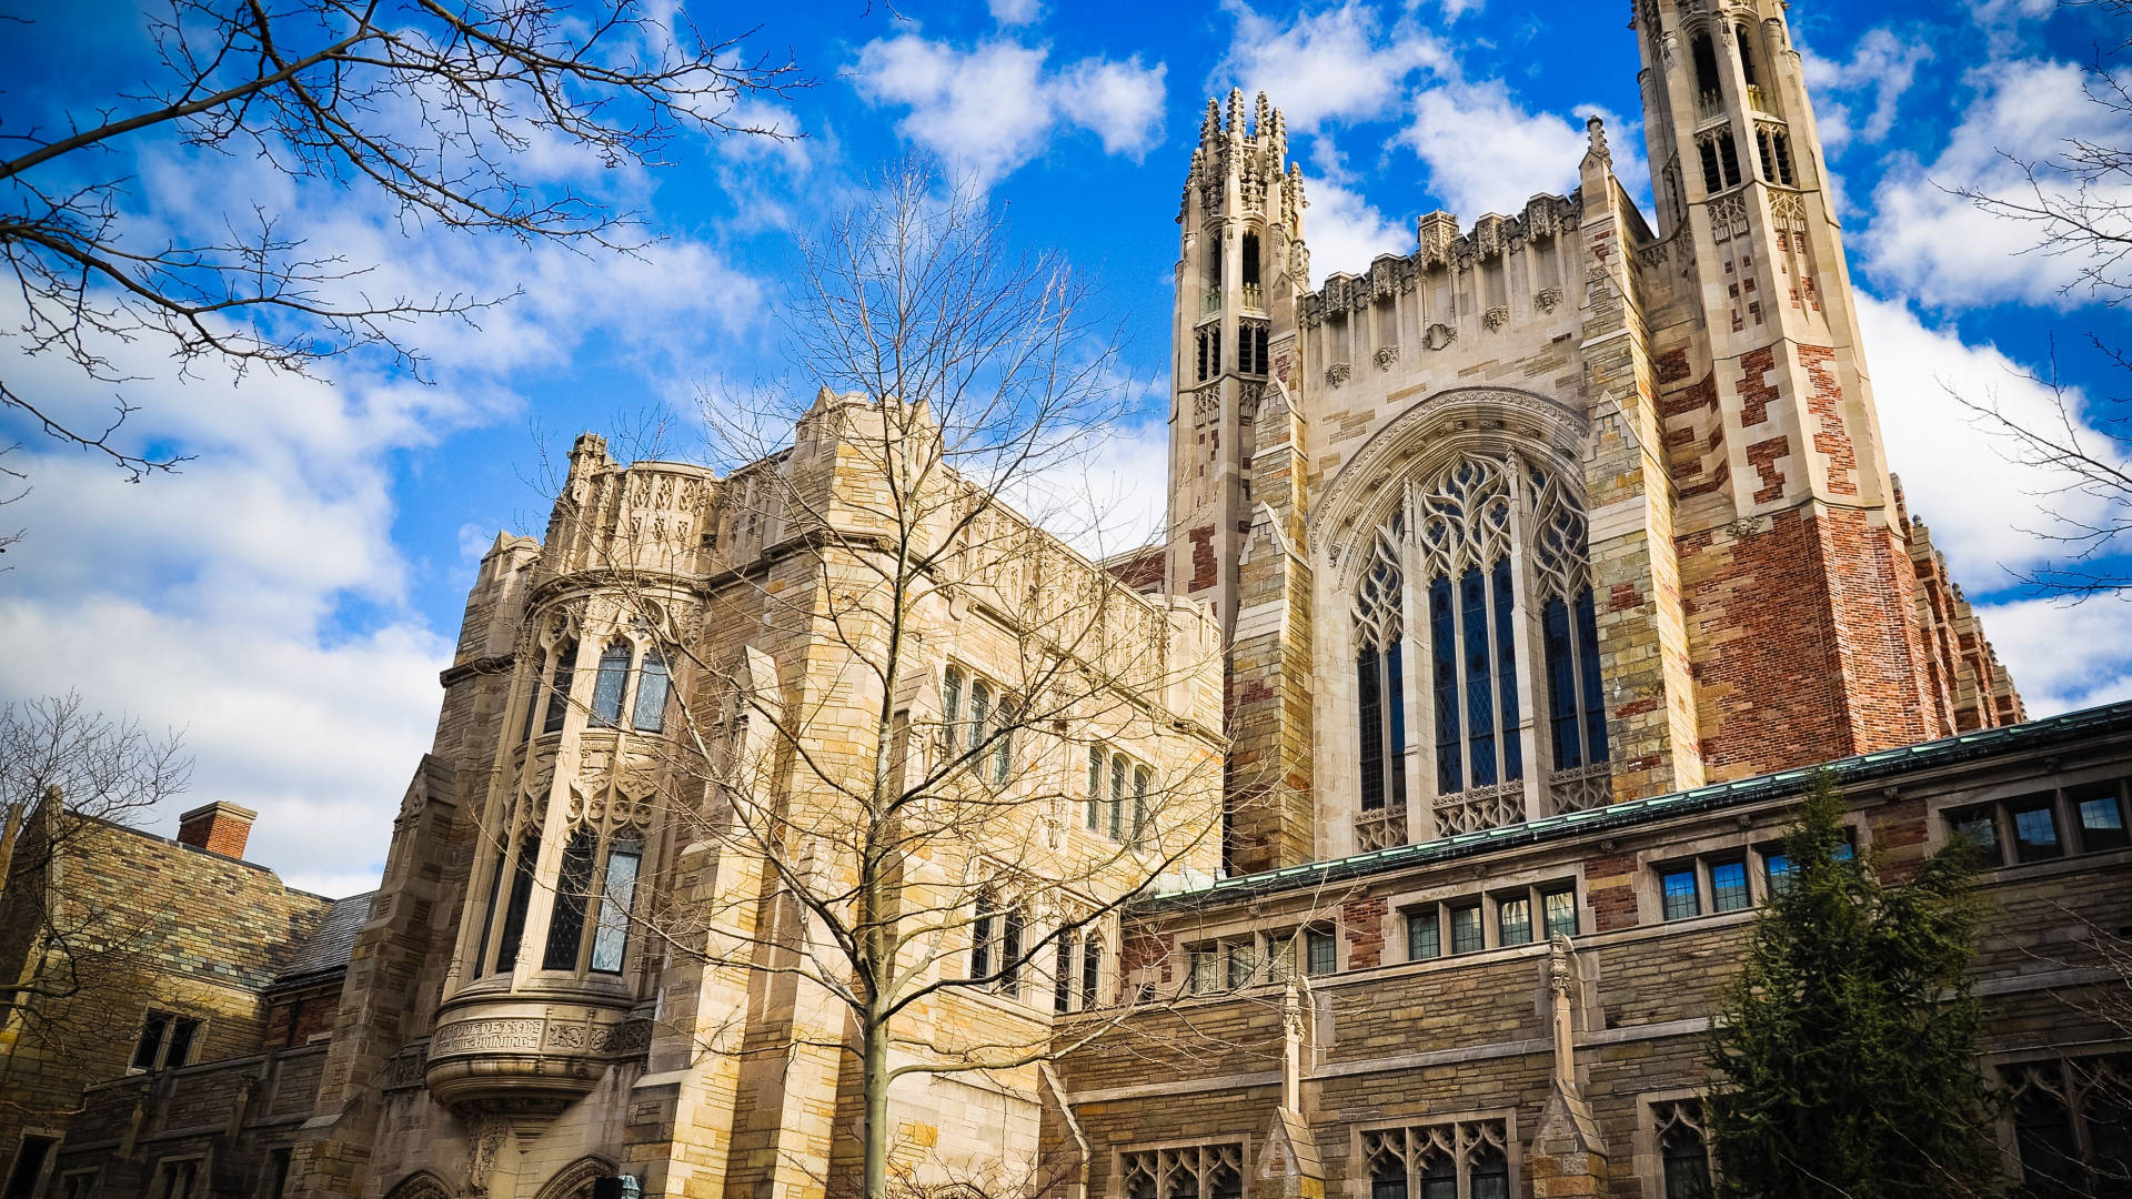
{"type": "Polygon", "coordinates": [[[1710,1030],[1721,1188],[1759,1199],[1993,1195],[1993,1092],[1968,984],[1976,851],[1906,883],[1851,853],[1823,774],[1784,838],[1789,879],[1755,924],[1710,1030]]]}

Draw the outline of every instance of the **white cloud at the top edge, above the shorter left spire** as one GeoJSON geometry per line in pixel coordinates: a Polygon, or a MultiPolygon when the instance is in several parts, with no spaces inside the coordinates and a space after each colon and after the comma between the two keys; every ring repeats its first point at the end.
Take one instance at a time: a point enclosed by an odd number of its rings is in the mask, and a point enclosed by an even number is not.
{"type": "Polygon", "coordinates": [[[1411,21],[1386,30],[1377,11],[1356,0],[1292,21],[1275,21],[1239,0],[1226,0],[1224,9],[1237,28],[1209,85],[1264,92],[1292,130],[1384,115],[1405,94],[1409,75],[1452,66],[1435,36],[1411,21]]]}

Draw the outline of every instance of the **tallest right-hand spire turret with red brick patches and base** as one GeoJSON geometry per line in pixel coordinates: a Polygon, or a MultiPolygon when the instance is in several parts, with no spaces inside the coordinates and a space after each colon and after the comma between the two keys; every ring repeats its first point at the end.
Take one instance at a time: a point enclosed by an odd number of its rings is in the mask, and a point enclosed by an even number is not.
{"type": "Polygon", "coordinates": [[[1710,777],[1951,732],[1784,4],[1637,0],[1635,30],[1659,209],[1640,267],[1710,777]]]}

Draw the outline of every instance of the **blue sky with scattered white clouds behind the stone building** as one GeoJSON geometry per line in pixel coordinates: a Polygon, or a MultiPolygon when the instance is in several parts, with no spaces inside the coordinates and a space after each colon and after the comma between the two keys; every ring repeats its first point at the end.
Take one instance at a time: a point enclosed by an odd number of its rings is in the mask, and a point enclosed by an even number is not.
{"type": "MultiPolygon", "coordinates": [[[[141,11],[34,9],[45,15],[0,41],[0,130],[128,111],[119,96],[154,68],[141,11]]],[[[661,241],[635,260],[409,228],[369,196],[158,137],[119,147],[126,203],[149,237],[215,228],[262,201],[313,245],[377,262],[379,284],[522,290],[480,326],[409,331],[426,384],[360,356],[316,380],[179,380],[156,348],[122,348],[145,405],[130,429],[198,454],[171,478],[126,484],[0,414],[0,444],[23,442],[9,461],[34,486],[0,508],[0,523],[30,531],[0,574],[0,698],[79,687],[107,710],[181,728],[198,757],[190,802],[260,809],[256,860],[298,885],[360,890],[429,745],[473,563],[497,529],[544,518],[542,450],[665,416],[687,452],[704,388],[782,380],[810,393],[780,354],[780,279],[795,230],[868,173],[915,154],[974,177],[1019,241],[1062,250],[1100,284],[1128,329],[1128,365],[1158,384],[1102,482],[1147,510],[1162,499],[1173,218],[1209,94],[1264,87],[1286,109],[1320,273],[1409,250],[1414,218],[1435,207],[1471,224],[1571,188],[1586,113],[1605,117],[1616,164],[1648,194],[1627,4],[691,11],[725,32],[746,13],[753,45],[789,49],[817,83],[744,113],[804,134],[791,143],[684,139],[657,171],[599,171],[542,147],[535,179],[642,213],[661,241]]],[[[2085,19],[2049,0],[1791,6],[1840,177],[1889,463],[2038,715],[2132,693],[2132,621],[2117,602],[2062,608],[2013,585],[2008,572],[2055,561],[2030,533],[2047,523],[2034,493],[2049,480],[2006,465],[1944,386],[2034,412],[2042,395],[2023,373],[2055,339],[2081,395],[2121,395],[2083,339],[2132,331],[2060,294],[2066,260],[2019,254],[2025,230],[1944,188],[2004,183],[2000,149],[2047,151],[2066,130],[2132,143],[2081,98],[2077,64],[2096,41],[2085,19]]],[[[60,363],[9,358],[11,382],[68,412],[109,403],[109,388],[60,363]]]]}

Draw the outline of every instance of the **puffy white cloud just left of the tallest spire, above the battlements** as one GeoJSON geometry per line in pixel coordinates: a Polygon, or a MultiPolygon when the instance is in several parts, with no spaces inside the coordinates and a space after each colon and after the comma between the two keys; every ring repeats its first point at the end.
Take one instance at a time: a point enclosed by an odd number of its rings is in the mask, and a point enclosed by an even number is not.
{"type": "Polygon", "coordinates": [[[1501,81],[1422,92],[1401,141],[1428,166],[1428,190],[1467,220],[1524,211],[1537,192],[1576,188],[1586,149],[1582,122],[1529,113],[1501,81]],[[1488,151],[1475,154],[1477,145],[1488,151]]]}

